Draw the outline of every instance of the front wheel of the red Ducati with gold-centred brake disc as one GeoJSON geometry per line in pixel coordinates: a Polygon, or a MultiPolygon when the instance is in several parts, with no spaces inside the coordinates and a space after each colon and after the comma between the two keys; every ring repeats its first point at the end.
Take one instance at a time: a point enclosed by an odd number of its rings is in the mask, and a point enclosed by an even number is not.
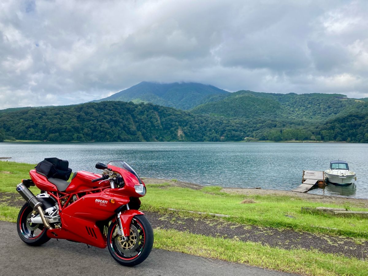
{"type": "Polygon", "coordinates": [[[144,215],[133,217],[128,240],[124,241],[117,231],[117,222],[112,222],[107,232],[107,248],[114,260],[121,265],[138,265],[151,253],[153,230],[144,215]]]}

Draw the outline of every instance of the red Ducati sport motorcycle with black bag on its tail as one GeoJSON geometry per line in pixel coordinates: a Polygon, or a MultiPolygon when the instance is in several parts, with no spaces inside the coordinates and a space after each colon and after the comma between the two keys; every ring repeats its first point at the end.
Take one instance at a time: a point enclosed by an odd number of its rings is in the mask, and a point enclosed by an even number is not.
{"type": "Polygon", "coordinates": [[[48,158],[40,162],[29,172],[31,179],[17,185],[26,201],[18,215],[18,234],[33,246],[50,238],[107,246],[121,265],[138,265],[153,245],[151,224],[138,210],[145,184],[124,161],[97,163],[96,168],[102,174],[77,171],[68,182],[67,161],[48,158]],[[28,189],[34,185],[40,194],[28,189]]]}

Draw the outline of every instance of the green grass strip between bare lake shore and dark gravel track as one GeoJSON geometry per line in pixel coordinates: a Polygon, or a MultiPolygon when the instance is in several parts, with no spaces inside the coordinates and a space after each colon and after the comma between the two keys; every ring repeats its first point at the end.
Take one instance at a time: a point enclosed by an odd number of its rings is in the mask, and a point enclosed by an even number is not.
{"type": "MultiPolygon", "coordinates": [[[[162,210],[162,208],[174,208],[217,213],[229,215],[230,217],[224,219],[237,223],[368,239],[367,219],[301,212],[301,207],[343,208],[343,206],[311,202],[290,196],[233,195],[222,192],[221,189],[221,187],[209,186],[201,190],[180,187],[167,187],[163,190],[152,184],[148,185],[147,194],[142,198],[142,208],[154,211],[162,210]],[[255,203],[241,204],[240,202],[244,199],[249,199],[249,202],[254,201],[255,203]]],[[[349,208],[351,210],[367,210],[349,208]]]]}

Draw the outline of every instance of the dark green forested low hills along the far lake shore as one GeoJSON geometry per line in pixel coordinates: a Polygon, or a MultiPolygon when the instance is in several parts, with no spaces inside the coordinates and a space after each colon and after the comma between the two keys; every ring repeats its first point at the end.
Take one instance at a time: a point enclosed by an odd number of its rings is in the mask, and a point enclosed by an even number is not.
{"type": "Polygon", "coordinates": [[[0,113],[0,141],[241,141],[247,137],[368,142],[368,112],[307,122],[272,116],[282,103],[264,103],[270,110],[268,116],[257,113],[259,116],[252,118],[208,116],[151,103],[117,101],[27,108],[0,113]]]}

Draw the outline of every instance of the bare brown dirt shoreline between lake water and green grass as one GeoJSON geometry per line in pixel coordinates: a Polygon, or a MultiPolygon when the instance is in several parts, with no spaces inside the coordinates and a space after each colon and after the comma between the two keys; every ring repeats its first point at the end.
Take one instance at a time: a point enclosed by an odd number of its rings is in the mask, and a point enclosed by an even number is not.
{"type": "MultiPolygon", "coordinates": [[[[181,187],[181,188],[190,188],[193,190],[200,190],[204,185],[185,182],[185,181],[172,181],[169,179],[163,178],[150,178],[150,177],[141,177],[145,184],[153,184],[158,185],[162,183],[169,183],[173,187],[181,187]]],[[[211,185],[212,186],[212,185],[211,185]]],[[[219,186],[222,187],[222,186],[219,186]]],[[[351,203],[358,207],[368,208],[368,199],[363,198],[349,198],[349,197],[339,197],[333,195],[316,195],[316,194],[308,194],[308,192],[294,192],[294,191],[286,191],[286,190],[271,190],[271,189],[262,189],[262,188],[231,188],[231,187],[222,187],[223,192],[227,192],[229,194],[240,194],[240,195],[273,195],[273,196],[289,196],[289,197],[299,197],[305,200],[313,201],[313,202],[321,202],[321,203],[335,203],[335,204],[344,204],[351,203]]]]}

